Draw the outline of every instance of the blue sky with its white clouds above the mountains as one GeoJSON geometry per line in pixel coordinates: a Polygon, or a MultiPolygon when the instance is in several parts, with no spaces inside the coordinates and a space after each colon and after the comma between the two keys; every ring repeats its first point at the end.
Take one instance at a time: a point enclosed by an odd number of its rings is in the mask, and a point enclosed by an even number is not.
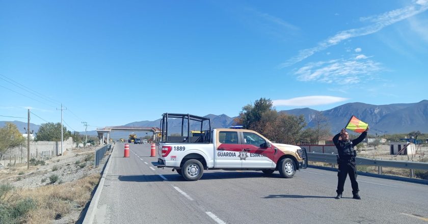
{"type": "Polygon", "coordinates": [[[0,0],[0,120],[68,130],[427,99],[428,0],[0,0]]]}

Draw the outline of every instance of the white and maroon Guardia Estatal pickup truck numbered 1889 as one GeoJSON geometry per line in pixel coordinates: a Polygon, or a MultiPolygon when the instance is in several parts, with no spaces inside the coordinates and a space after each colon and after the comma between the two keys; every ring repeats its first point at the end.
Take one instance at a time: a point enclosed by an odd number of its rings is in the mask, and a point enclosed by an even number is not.
{"type": "Polygon", "coordinates": [[[279,171],[282,177],[292,178],[296,170],[307,167],[305,148],[272,143],[252,130],[211,129],[209,118],[166,113],[161,133],[157,162],[153,164],[158,168],[172,167],[188,181],[199,180],[208,169],[254,170],[265,174],[279,171]],[[174,131],[180,121],[181,131],[174,131]],[[191,127],[200,127],[201,136],[190,135],[191,127]]]}

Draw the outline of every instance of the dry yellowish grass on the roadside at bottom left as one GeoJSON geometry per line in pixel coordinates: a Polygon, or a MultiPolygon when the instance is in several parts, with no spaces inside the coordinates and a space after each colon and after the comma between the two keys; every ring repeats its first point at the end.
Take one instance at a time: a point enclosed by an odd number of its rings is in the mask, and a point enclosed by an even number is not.
{"type": "Polygon", "coordinates": [[[48,223],[56,217],[65,216],[75,207],[85,206],[99,179],[99,174],[93,174],[60,185],[48,185],[36,189],[14,189],[3,195],[0,203],[14,206],[19,201],[31,199],[37,207],[23,214],[17,222],[48,223]]]}

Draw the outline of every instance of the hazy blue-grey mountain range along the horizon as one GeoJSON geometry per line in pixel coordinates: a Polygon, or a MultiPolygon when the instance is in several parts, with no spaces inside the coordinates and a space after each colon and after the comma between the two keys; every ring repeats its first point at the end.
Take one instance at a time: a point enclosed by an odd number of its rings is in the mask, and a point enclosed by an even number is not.
{"type": "MultiPolygon", "coordinates": [[[[290,115],[303,115],[305,117],[307,127],[314,127],[313,118],[319,111],[311,108],[299,108],[282,110],[290,115]]],[[[174,111],[171,111],[174,112],[174,111]]],[[[337,133],[349,121],[352,115],[360,120],[368,123],[370,126],[370,134],[393,134],[393,133],[409,133],[411,131],[428,132],[428,100],[422,100],[417,103],[397,103],[388,105],[372,105],[366,103],[346,103],[332,109],[320,111],[327,119],[330,125],[331,132],[337,133]]],[[[233,119],[227,115],[206,115],[211,121],[211,127],[229,127],[233,125],[233,119]]],[[[124,126],[133,127],[159,127],[161,119],[155,121],[139,121],[124,124],[124,126]]],[[[5,121],[0,121],[0,127],[4,126],[5,121]]],[[[25,133],[23,127],[26,123],[13,121],[12,123],[18,126],[18,130],[25,133]]],[[[179,121],[174,126],[179,127],[179,121]]],[[[108,125],[106,125],[108,126],[108,125]]],[[[38,131],[39,125],[30,124],[30,129],[38,131]]],[[[82,133],[82,132],[81,132],[82,133]]],[[[128,132],[113,132],[112,138],[127,138],[128,132]]],[[[96,135],[96,131],[88,131],[88,135],[96,135]]],[[[143,134],[144,135],[144,134],[143,134]]]]}

